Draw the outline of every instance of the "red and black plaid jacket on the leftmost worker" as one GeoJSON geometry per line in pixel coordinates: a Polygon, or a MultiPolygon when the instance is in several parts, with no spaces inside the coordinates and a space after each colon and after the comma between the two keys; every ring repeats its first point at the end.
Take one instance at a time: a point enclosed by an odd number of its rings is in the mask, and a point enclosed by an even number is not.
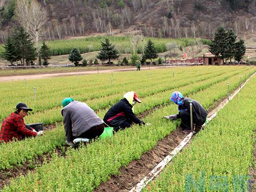
{"type": "Polygon", "coordinates": [[[13,138],[21,140],[25,137],[36,136],[37,133],[26,128],[23,118],[19,114],[12,113],[3,122],[0,131],[0,142],[12,141],[13,138]]]}

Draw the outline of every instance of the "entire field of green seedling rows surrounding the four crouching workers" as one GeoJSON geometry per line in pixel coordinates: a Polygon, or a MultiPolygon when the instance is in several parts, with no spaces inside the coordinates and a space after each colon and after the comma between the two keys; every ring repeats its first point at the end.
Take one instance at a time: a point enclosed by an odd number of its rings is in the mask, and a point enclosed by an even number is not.
{"type": "MultiPolygon", "coordinates": [[[[113,76],[109,73],[2,82],[0,107],[4,110],[0,111],[0,121],[18,102],[25,102],[33,108],[25,122],[43,122],[45,133],[42,137],[0,145],[0,189],[93,191],[111,175],[118,175],[121,167],[140,159],[142,154],[176,130],[177,122],[162,118],[178,113],[177,106],[170,101],[173,91],[199,101],[210,111],[227,97],[227,82],[231,93],[253,73],[255,68],[249,66],[197,66],[126,71],[113,73],[113,76]],[[76,150],[65,147],[60,114],[63,98],[86,102],[103,118],[128,91],[139,95],[142,103],[135,105],[134,113],[151,123],[150,126],[133,125],[113,137],[76,150]],[[40,163],[36,163],[38,159],[41,159],[40,163]]],[[[222,109],[204,131],[196,134],[191,145],[145,190],[196,191],[203,177],[206,179],[202,186],[206,191],[221,191],[217,185],[215,188],[209,185],[219,178],[209,178],[224,175],[226,191],[234,191],[233,179],[238,177],[239,180],[239,176],[249,173],[252,166],[255,81],[252,77],[241,94],[222,109]],[[249,115],[248,111],[252,113],[249,115]]]]}

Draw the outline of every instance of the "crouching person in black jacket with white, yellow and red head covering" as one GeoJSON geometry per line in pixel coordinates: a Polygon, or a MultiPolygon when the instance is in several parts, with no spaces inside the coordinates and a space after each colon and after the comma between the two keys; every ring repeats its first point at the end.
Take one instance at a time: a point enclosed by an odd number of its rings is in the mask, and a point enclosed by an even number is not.
{"type": "Polygon", "coordinates": [[[136,93],[133,91],[125,93],[124,98],[108,110],[103,121],[107,125],[114,127],[115,131],[130,127],[132,123],[145,125],[145,123],[138,119],[133,113],[133,106],[136,102],[141,103],[136,93]]]}

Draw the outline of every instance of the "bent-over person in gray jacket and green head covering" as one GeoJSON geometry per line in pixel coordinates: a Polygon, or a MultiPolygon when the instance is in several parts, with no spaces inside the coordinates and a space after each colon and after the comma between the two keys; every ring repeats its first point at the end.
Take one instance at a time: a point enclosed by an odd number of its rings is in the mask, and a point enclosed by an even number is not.
{"type": "Polygon", "coordinates": [[[62,101],[61,115],[66,132],[66,143],[73,146],[76,138],[95,139],[104,131],[104,122],[84,102],[65,98],[62,101]]]}

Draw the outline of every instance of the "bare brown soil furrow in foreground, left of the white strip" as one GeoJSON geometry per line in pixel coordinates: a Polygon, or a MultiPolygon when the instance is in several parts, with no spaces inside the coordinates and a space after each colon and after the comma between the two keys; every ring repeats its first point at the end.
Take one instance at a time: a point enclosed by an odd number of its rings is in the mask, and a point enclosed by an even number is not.
{"type": "Polygon", "coordinates": [[[180,129],[173,131],[162,141],[159,141],[153,149],[143,154],[138,161],[132,161],[127,167],[121,167],[119,175],[112,175],[106,183],[101,183],[94,191],[131,190],[185,137],[186,134],[182,133],[180,129]]]}

